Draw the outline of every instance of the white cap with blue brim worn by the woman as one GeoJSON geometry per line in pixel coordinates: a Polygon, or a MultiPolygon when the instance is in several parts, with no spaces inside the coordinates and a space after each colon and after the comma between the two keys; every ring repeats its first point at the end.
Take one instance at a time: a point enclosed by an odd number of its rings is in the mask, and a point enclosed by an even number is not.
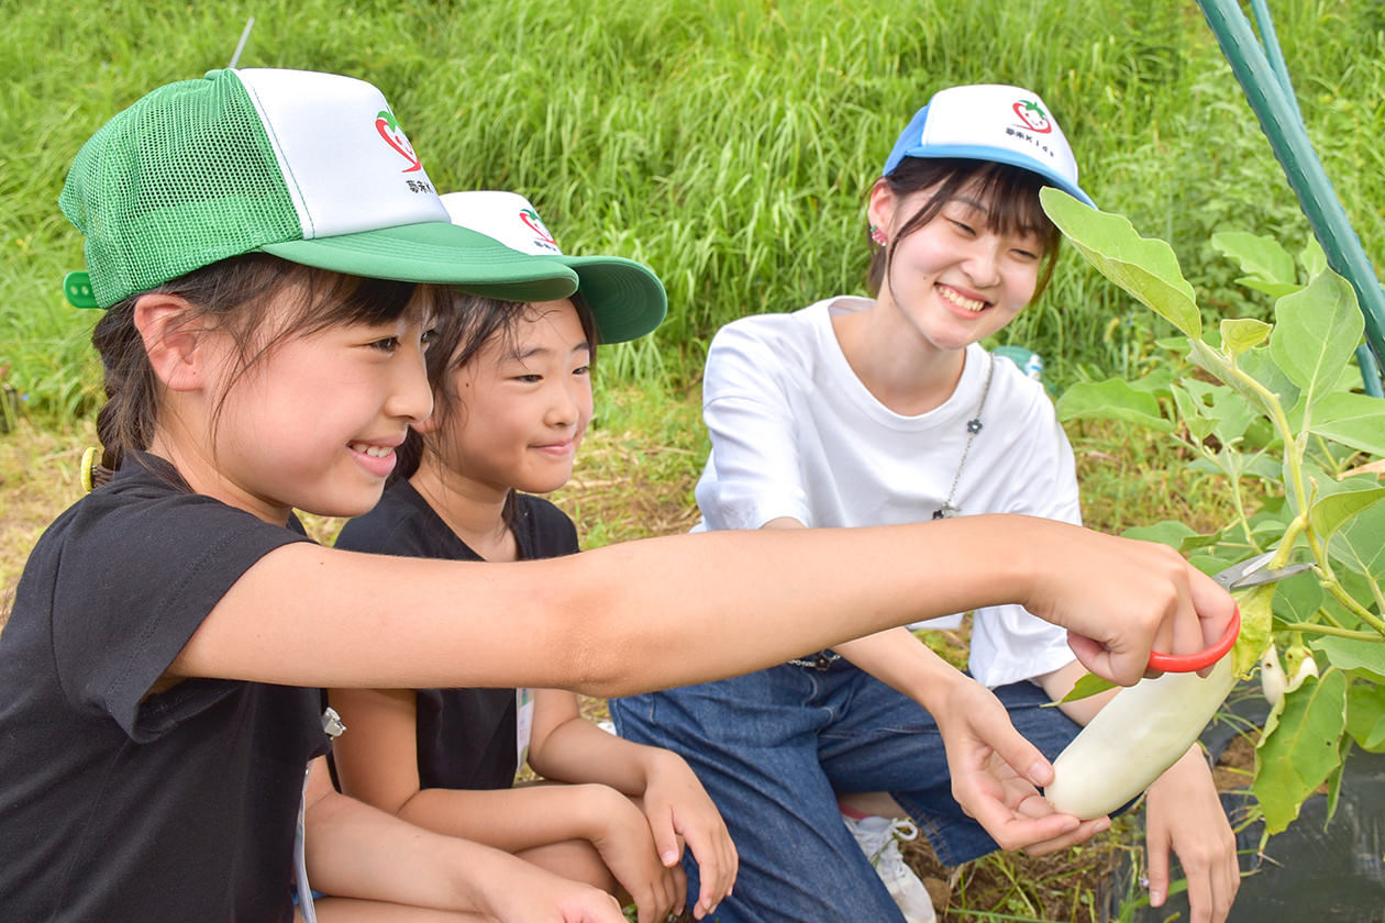
{"type": "Polygon", "coordinates": [[[976,83],[939,90],[895,141],[881,176],[910,156],[1024,167],[1096,208],[1078,185],[1078,161],[1062,129],[1039,94],[1024,87],[976,83]]]}

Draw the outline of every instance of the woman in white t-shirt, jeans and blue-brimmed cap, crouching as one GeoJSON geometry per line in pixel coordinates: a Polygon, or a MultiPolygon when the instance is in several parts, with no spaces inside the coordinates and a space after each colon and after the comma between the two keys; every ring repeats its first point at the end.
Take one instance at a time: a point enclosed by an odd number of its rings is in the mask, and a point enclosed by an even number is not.
{"type": "MultiPolygon", "coordinates": [[[[935,94],[870,192],[874,298],[742,318],[713,339],[698,529],[981,513],[1078,523],[1072,451],[1044,389],[981,346],[1053,271],[1058,232],[1039,205],[1043,185],[1091,203],[1036,94],[1012,86],[935,94]]],[[[981,554],[992,565],[1007,558],[981,554]]],[[[936,563],[892,560],[902,570],[936,563]]],[[[1015,846],[953,800],[953,747],[945,758],[939,735],[951,743],[950,725],[1003,707],[1057,756],[1101,702],[1042,707],[1082,674],[1073,650],[1024,606],[988,606],[972,625],[976,681],[900,628],[806,649],[745,677],[619,700],[612,714],[622,735],[681,753],[722,808],[741,855],[722,920],[917,923],[932,920],[933,908],[900,862],[896,836],[922,830],[947,865],[997,840],[1015,846]]],[[[1197,747],[1151,789],[1148,818],[1151,902],[1168,894],[1172,846],[1194,919],[1224,919],[1238,884],[1235,844],[1197,747]]],[[[1057,850],[1107,825],[1098,818],[1024,846],[1057,850]]]]}

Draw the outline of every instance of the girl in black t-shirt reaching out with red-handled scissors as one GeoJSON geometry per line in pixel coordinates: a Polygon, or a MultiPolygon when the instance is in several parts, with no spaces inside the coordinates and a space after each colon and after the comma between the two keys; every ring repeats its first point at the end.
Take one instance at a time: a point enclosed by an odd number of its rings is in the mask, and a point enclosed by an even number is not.
{"type": "MultiPolygon", "coordinates": [[[[576,273],[452,224],[379,91],[337,75],[161,87],[83,145],[60,205],[86,234],[69,293],[105,310],[114,477],[39,540],[0,635],[10,919],[283,923],[313,919],[312,887],[337,895],[324,919],[620,919],[596,888],[532,866],[507,887],[492,872],[518,859],[331,796],[323,686],[632,693],[1006,601],[1133,684],[1151,649],[1233,617],[1166,549],[1022,518],[507,565],[321,548],[294,511],[368,511],[432,408],[438,286],[547,302],[576,273]]],[[[988,739],[1029,767],[1012,729],[988,739]]],[[[1028,818],[997,778],[975,760],[954,779],[992,826],[1075,823],[1028,818]]]]}

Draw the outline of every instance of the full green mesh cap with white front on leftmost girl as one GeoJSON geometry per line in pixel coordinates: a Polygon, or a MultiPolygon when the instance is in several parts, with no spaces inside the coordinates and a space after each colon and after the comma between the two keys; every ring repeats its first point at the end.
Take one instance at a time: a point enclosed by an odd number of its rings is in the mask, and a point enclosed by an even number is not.
{"type": "Polygon", "coordinates": [[[86,234],[100,307],[251,252],[510,300],[578,282],[452,224],[385,97],[334,73],[212,71],[159,87],[82,147],[58,205],[86,234]]]}

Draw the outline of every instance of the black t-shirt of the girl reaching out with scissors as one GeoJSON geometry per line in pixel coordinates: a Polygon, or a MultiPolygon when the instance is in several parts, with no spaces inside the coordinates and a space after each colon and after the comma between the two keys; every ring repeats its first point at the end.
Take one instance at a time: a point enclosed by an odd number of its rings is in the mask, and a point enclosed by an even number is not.
{"type": "Polygon", "coordinates": [[[150,455],[43,534],[0,635],[0,920],[291,919],[319,691],[148,691],[240,576],[295,541],[150,455]]]}

